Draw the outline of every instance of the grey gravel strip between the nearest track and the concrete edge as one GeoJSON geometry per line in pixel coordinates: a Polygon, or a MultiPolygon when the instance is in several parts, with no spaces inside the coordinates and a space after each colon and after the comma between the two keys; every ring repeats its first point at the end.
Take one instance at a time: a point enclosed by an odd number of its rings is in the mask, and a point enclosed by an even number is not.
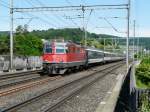
{"type": "Polygon", "coordinates": [[[86,88],[75,97],[66,101],[52,112],[94,112],[98,104],[103,101],[106,94],[110,94],[116,83],[116,74],[125,74],[126,68],[117,69],[102,80],[86,88]]]}

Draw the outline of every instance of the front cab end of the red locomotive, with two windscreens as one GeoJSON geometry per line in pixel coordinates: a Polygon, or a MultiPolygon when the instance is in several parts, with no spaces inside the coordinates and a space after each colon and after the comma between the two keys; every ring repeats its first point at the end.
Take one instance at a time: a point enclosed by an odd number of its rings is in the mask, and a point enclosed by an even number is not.
{"type": "Polygon", "coordinates": [[[47,42],[44,45],[43,72],[48,74],[63,74],[63,63],[66,61],[65,43],[47,42]]]}

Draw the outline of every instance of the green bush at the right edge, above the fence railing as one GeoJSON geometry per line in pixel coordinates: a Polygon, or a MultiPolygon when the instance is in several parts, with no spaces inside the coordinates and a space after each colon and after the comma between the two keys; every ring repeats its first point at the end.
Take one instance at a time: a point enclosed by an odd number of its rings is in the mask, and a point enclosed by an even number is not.
{"type": "Polygon", "coordinates": [[[139,88],[150,88],[150,57],[144,58],[136,68],[136,83],[139,88]]]}

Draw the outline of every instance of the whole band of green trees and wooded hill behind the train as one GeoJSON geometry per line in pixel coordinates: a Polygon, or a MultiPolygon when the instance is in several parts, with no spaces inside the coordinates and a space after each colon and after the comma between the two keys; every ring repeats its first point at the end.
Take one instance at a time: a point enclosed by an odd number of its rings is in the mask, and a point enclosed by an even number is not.
{"type": "MultiPolygon", "coordinates": [[[[119,48],[119,45],[125,45],[125,40],[117,42],[110,38],[117,38],[113,35],[95,34],[87,32],[87,45],[99,49],[106,47],[119,48]],[[105,38],[105,43],[104,43],[105,38]]],[[[41,55],[43,49],[42,39],[64,39],[71,40],[78,44],[84,44],[84,32],[80,28],[48,29],[28,31],[28,26],[18,26],[14,32],[14,54],[15,55],[41,55]]],[[[9,54],[9,32],[0,32],[0,54],[9,54]]],[[[130,42],[132,43],[132,42],[130,42]]]]}

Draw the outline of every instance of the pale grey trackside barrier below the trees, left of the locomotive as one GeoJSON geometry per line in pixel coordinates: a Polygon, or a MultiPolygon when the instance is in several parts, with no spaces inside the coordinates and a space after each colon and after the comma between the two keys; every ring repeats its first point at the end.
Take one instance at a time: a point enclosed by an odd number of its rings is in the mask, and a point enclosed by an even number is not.
{"type": "MultiPolygon", "coordinates": [[[[0,55],[0,72],[9,71],[9,56],[0,55]]],[[[42,67],[42,58],[40,56],[15,56],[13,59],[14,70],[36,69],[42,67]]]]}

